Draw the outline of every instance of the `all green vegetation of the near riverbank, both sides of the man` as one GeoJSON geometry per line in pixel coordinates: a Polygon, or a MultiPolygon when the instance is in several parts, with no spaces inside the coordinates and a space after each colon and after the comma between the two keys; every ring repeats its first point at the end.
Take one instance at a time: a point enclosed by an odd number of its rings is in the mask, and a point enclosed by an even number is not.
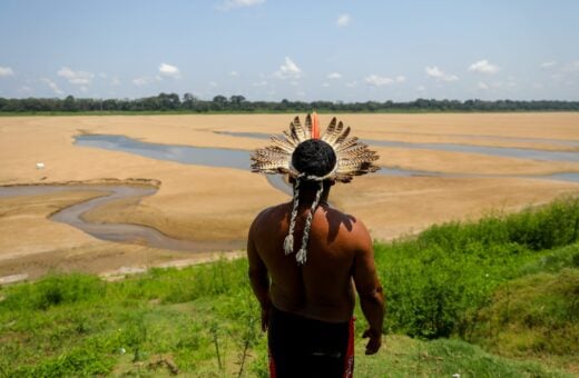
{"type": "MultiPolygon", "coordinates": [[[[382,376],[579,372],[579,199],[434,226],[376,243],[382,376]]],[[[1,376],[265,377],[266,342],[245,259],[106,282],[50,275],[0,289],[1,376]]]]}

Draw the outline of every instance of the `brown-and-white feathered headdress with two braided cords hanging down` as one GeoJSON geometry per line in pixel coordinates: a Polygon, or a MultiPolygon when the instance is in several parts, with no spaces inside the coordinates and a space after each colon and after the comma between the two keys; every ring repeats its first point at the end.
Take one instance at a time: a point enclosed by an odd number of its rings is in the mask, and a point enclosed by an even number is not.
{"type": "Polygon", "coordinates": [[[292,253],[294,250],[293,233],[295,219],[297,217],[300,181],[307,180],[318,182],[318,190],[304,227],[302,247],[296,253],[296,260],[298,263],[304,263],[306,261],[306,247],[310,238],[310,228],[312,226],[313,215],[320,203],[320,197],[323,191],[322,182],[324,180],[350,182],[354,176],[375,172],[380,169],[380,167],[373,165],[373,162],[380,158],[376,152],[371,151],[367,146],[360,142],[356,137],[349,138],[349,136],[350,127],[344,128],[342,121],[337,122],[335,117],[330,122],[325,132],[320,136],[317,115],[314,113],[313,117],[307,115],[305,118],[305,126],[302,126],[300,117],[296,117],[294,121],[290,123],[290,130],[284,131],[282,137],[271,137],[273,142],[272,146],[257,149],[252,155],[252,171],[268,175],[290,175],[290,177],[294,178],[293,211],[290,221],[290,231],[284,241],[284,250],[286,255],[292,253]],[[292,156],[297,146],[310,139],[320,139],[326,142],[332,147],[336,156],[335,166],[324,176],[300,172],[292,165],[292,156]]]}

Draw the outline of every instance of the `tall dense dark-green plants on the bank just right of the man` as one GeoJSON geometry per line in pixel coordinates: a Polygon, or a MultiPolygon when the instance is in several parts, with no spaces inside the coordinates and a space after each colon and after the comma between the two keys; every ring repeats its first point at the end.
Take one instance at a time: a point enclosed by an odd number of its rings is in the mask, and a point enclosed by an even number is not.
{"type": "Polygon", "coordinates": [[[542,269],[541,259],[579,259],[558,250],[578,241],[578,227],[579,200],[569,198],[516,215],[434,226],[416,238],[376,246],[389,298],[386,330],[464,337],[502,282],[531,266],[542,269]]]}

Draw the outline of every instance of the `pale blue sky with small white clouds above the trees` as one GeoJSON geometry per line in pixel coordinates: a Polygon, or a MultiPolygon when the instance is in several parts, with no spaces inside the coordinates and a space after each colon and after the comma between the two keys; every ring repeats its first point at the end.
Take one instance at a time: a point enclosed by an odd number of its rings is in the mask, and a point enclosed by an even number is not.
{"type": "Polygon", "coordinates": [[[579,1],[0,0],[0,97],[579,100],[579,1]]]}

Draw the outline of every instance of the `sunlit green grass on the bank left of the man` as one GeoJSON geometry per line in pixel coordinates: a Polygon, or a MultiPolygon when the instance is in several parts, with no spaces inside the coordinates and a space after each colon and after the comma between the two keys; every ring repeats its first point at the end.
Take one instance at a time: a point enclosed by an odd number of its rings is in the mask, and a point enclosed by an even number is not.
{"type": "Polygon", "coordinates": [[[203,371],[215,368],[219,345],[222,358],[229,352],[237,361],[261,336],[244,260],[154,269],[119,282],[51,276],[3,291],[0,375],[107,374],[127,356],[129,368],[120,374],[159,356],[170,356],[183,371],[203,371]]]}

